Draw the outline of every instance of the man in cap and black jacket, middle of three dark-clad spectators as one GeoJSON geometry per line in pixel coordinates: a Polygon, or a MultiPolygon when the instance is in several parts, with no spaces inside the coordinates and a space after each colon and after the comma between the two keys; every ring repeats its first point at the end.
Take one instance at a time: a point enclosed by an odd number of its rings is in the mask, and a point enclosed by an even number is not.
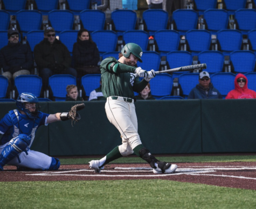
{"type": "Polygon", "coordinates": [[[77,77],[77,71],[71,68],[71,55],[67,47],[56,39],[54,28],[47,27],[44,40],[34,47],[34,60],[43,80],[44,90],[48,80],[54,74],[70,74],[77,77]]]}

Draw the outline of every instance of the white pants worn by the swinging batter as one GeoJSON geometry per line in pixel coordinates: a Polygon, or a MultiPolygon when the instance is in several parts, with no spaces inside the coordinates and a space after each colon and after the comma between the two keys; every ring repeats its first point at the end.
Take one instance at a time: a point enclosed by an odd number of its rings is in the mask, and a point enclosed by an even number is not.
{"type": "Polygon", "coordinates": [[[119,97],[119,99],[108,97],[105,110],[108,120],[122,136],[122,145],[119,146],[119,152],[123,156],[132,154],[133,149],[141,145],[134,103],[124,102],[122,97],[119,97]]]}

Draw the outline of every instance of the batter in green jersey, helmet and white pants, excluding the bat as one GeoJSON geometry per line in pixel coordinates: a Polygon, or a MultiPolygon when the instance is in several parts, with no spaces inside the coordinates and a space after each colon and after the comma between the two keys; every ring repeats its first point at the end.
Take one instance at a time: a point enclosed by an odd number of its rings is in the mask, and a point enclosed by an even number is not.
{"type": "Polygon", "coordinates": [[[138,60],[142,62],[141,56],[141,47],[129,43],[122,48],[119,60],[107,57],[100,64],[102,93],[107,98],[107,118],[119,130],[122,145],[115,147],[100,160],[89,162],[89,167],[95,172],[101,172],[109,162],[133,153],[147,161],[155,174],[172,173],[177,169],[176,164],[159,161],[151,155],[149,150],[143,147],[137,132],[134,91],[141,92],[151,78],[155,77],[154,70],[146,71],[135,67],[138,60]],[[137,76],[143,77],[143,80],[140,81],[137,76]]]}

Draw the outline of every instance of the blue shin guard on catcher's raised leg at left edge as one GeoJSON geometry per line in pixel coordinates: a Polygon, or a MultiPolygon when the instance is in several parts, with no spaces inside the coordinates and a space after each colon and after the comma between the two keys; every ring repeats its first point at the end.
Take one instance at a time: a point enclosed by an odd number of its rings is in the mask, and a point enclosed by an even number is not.
{"type": "Polygon", "coordinates": [[[26,134],[19,134],[16,138],[13,138],[0,155],[1,167],[17,157],[19,153],[24,152],[29,147],[30,142],[31,138],[26,134]]]}

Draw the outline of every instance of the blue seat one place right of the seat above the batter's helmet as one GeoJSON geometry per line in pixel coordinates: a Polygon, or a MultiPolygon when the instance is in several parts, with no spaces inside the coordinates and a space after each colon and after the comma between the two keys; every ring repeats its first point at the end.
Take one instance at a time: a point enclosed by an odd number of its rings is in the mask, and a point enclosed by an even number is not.
{"type": "Polygon", "coordinates": [[[167,53],[178,50],[179,33],[174,30],[156,31],[155,41],[161,56],[166,56],[167,53]]]}

